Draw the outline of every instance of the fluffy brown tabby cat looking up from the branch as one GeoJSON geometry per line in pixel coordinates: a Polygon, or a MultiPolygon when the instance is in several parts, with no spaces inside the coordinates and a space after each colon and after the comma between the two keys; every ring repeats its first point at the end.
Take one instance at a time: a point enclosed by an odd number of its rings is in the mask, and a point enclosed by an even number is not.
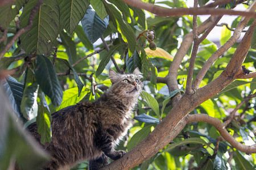
{"type": "MultiPolygon", "coordinates": [[[[117,74],[109,70],[112,87],[94,102],[84,101],[52,114],[52,141],[42,146],[51,155],[44,169],[67,169],[89,160],[89,169],[99,169],[108,159],[125,151],[114,147],[131,127],[131,112],[141,94],[142,73],[117,74]],[[109,157],[109,158],[108,158],[109,157]]],[[[40,142],[36,123],[28,130],[40,142]]]]}

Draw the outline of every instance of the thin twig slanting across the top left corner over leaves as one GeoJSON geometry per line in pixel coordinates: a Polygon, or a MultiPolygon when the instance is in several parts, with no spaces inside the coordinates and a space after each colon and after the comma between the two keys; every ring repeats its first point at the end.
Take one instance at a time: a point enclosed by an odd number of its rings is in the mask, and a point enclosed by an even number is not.
{"type": "Polygon", "coordinates": [[[38,0],[38,3],[36,3],[36,5],[32,8],[30,12],[30,16],[28,18],[28,25],[24,28],[19,29],[19,31],[14,35],[13,39],[11,39],[11,41],[5,46],[5,49],[3,49],[2,52],[0,53],[0,59],[2,59],[5,53],[7,53],[7,51],[11,48],[11,46],[16,41],[16,39],[18,39],[20,35],[22,35],[24,32],[27,32],[32,27],[35,14],[38,11],[41,4],[42,4],[42,0],[38,0]]]}

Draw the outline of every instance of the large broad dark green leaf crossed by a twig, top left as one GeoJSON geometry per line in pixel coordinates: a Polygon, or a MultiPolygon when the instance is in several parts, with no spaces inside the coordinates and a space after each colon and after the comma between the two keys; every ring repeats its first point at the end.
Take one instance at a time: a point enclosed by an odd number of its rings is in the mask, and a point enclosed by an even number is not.
{"type": "MultiPolygon", "coordinates": [[[[30,0],[24,6],[20,16],[20,27],[26,27],[32,8],[37,0],[30,0]]],[[[56,37],[60,27],[60,12],[56,0],[44,0],[38,12],[35,15],[31,29],[20,36],[22,49],[26,53],[35,53],[47,55],[56,37]]]]}

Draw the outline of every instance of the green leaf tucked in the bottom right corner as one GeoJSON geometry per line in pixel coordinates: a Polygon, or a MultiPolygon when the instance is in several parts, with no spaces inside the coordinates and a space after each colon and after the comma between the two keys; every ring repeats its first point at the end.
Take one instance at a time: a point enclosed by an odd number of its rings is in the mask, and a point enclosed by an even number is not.
{"type": "Polygon", "coordinates": [[[236,162],[236,166],[238,167],[238,169],[254,169],[253,164],[251,164],[251,162],[248,159],[246,159],[240,151],[235,151],[234,153],[235,154],[233,158],[236,162]]]}

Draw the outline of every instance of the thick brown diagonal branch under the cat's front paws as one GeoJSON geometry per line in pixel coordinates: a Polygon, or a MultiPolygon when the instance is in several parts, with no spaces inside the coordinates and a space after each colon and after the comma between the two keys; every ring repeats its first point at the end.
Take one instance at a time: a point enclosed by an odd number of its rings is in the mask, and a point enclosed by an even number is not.
{"type": "MultiPolygon", "coordinates": [[[[160,124],[156,126],[156,128],[144,138],[141,143],[121,159],[118,159],[101,169],[119,169],[120,167],[125,167],[125,169],[133,168],[155,155],[164,146],[168,145],[168,143],[176,137],[176,134],[179,133],[176,128],[180,128],[181,125],[184,125],[183,119],[189,112],[204,101],[210,99],[210,97],[213,97],[218,92],[222,91],[236,79],[237,75],[243,73],[242,62],[250,48],[251,36],[255,25],[256,22],[251,24],[240,45],[238,45],[236,52],[230,59],[228,66],[220,76],[206,86],[198,88],[195,93],[184,94],[179,100],[179,103],[174,105],[167,116],[163,118],[160,124]]],[[[233,141],[231,142],[232,145],[234,145],[233,141]]],[[[240,146],[238,146],[238,148],[240,149],[240,146]]]]}

